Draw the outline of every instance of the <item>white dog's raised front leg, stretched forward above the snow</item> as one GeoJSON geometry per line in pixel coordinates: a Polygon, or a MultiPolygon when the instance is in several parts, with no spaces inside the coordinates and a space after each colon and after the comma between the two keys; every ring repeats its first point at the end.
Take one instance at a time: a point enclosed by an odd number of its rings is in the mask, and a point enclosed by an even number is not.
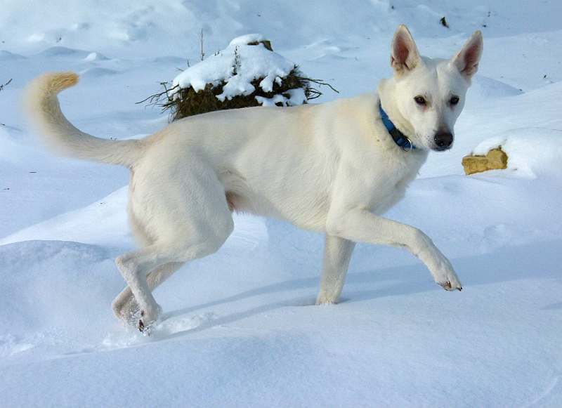
{"type": "Polygon", "coordinates": [[[364,209],[352,209],[331,214],[327,232],[354,242],[405,246],[427,266],[440,286],[448,291],[462,289],[449,260],[424,232],[410,225],[388,220],[364,209]]]}

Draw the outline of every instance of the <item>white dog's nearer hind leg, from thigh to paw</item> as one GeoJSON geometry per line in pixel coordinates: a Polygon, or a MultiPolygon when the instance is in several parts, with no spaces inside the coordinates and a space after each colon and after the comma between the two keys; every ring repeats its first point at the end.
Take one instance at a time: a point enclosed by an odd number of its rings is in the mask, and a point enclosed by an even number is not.
{"type": "Polygon", "coordinates": [[[160,173],[136,172],[141,182],[131,195],[132,209],[151,239],[148,246],[119,256],[115,263],[138,304],[139,329],[159,317],[151,289],[182,263],[213,254],[233,231],[223,185],[204,162],[196,166],[196,159],[185,160],[179,167],[161,168],[160,173]],[[149,272],[154,272],[152,278],[149,272]]]}

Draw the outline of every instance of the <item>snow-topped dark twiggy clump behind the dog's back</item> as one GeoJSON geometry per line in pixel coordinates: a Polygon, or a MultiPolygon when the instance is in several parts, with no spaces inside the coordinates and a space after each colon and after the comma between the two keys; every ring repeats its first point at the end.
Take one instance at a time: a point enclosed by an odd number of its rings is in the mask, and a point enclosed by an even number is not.
{"type": "Polygon", "coordinates": [[[247,34],[179,74],[163,106],[174,121],[215,110],[302,105],[321,95],[311,81],[261,34],[247,34]]]}

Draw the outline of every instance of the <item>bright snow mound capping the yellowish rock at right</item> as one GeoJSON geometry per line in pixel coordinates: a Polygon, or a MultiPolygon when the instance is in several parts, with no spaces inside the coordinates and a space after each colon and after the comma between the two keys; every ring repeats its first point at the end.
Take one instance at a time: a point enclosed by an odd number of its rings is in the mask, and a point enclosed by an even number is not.
{"type": "Polygon", "coordinates": [[[516,171],[520,176],[559,176],[562,131],[541,128],[516,129],[483,140],[472,153],[485,156],[497,147],[502,147],[507,153],[507,169],[516,171]]]}

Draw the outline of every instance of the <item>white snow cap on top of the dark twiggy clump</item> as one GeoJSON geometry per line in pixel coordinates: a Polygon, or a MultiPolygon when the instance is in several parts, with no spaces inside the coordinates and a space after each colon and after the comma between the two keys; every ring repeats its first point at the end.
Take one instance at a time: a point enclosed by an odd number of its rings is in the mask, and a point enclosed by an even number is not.
{"type": "Polygon", "coordinates": [[[273,82],[280,84],[295,65],[281,55],[269,51],[263,44],[247,45],[261,41],[261,34],[237,37],[223,51],[209,56],[179,74],[173,81],[180,88],[192,87],[201,91],[207,84],[218,85],[226,82],[218,100],[229,100],[235,96],[247,96],[255,91],[251,81],[263,78],[259,87],[264,92],[273,91],[273,82]]]}

